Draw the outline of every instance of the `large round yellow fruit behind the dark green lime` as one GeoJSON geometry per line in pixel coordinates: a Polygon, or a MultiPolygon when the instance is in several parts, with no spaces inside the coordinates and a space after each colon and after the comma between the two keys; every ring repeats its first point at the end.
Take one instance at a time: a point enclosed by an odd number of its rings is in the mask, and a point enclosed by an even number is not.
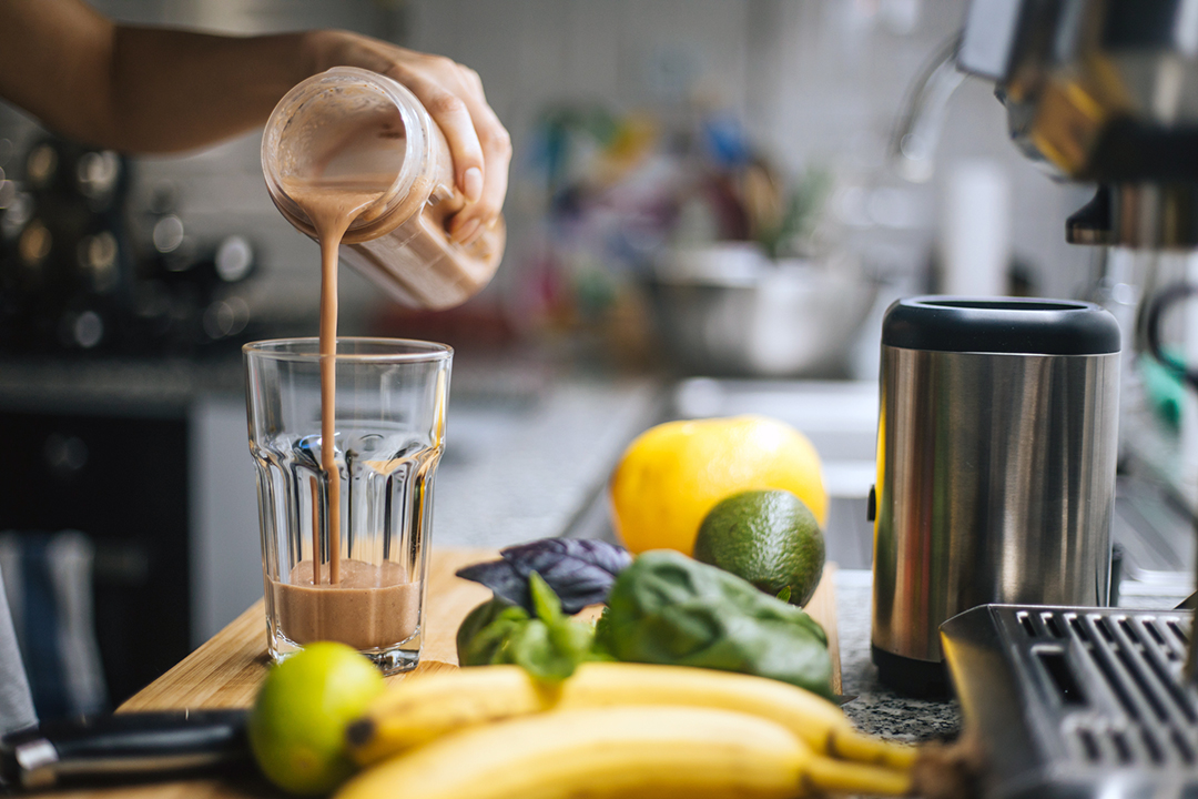
{"type": "Polygon", "coordinates": [[[690,555],[703,517],[742,491],[791,491],[822,526],[828,494],[801,432],[762,416],[667,422],[641,434],[611,478],[616,532],[634,553],[690,555]]]}

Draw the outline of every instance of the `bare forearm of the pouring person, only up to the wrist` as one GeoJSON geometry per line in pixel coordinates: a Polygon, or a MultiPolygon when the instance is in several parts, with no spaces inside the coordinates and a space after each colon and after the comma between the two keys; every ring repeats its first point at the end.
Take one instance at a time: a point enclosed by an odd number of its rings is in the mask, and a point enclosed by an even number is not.
{"type": "Polygon", "coordinates": [[[132,28],[79,0],[0,0],[0,97],[87,144],[188,150],[261,125],[311,74],[308,36],[132,28]]]}

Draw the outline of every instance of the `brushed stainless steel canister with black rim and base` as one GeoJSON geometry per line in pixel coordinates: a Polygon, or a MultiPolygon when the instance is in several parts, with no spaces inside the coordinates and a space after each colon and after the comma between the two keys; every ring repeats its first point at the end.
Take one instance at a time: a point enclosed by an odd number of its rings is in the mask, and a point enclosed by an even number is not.
{"type": "Polygon", "coordinates": [[[882,328],[872,654],[948,689],[938,628],[987,603],[1105,605],[1119,326],[1097,305],[915,297],[882,328]]]}

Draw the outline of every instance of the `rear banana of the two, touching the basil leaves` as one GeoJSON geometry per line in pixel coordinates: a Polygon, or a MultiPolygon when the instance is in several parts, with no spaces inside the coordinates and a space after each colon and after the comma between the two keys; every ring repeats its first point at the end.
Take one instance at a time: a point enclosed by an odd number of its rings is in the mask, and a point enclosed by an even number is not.
{"type": "Polygon", "coordinates": [[[909,769],[916,750],[863,736],[840,708],[787,683],[688,666],[582,664],[561,683],[519,666],[474,666],[410,677],[388,689],[347,732],[362,765],[472,725],[545,710],[670,704],[724,708],[775,721],[831,757],[909,769]]]}

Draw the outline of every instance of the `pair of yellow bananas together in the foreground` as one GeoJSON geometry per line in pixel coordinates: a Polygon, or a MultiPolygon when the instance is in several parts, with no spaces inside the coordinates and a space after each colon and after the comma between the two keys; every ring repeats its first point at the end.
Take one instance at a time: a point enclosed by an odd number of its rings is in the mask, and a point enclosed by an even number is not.
{"type": "Polygon", "coordinates": [[[519,666],[409,678],[347,737],[359,764],[387,761],[346,786],[350,799],[901,794],[916,757],[786,683],[624,662],[583,664],[562,683],[519,666]]]}

